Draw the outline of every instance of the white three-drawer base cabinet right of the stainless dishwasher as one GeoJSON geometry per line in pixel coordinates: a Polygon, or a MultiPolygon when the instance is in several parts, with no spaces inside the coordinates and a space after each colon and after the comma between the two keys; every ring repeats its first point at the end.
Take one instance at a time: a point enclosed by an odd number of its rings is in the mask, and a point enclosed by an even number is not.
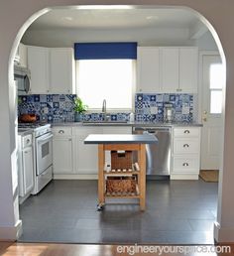
{"type": "Polygon", "coordinates": [[[198,180],[200,169],[200,127],[173,129],[171,180],[198,180]]]}

